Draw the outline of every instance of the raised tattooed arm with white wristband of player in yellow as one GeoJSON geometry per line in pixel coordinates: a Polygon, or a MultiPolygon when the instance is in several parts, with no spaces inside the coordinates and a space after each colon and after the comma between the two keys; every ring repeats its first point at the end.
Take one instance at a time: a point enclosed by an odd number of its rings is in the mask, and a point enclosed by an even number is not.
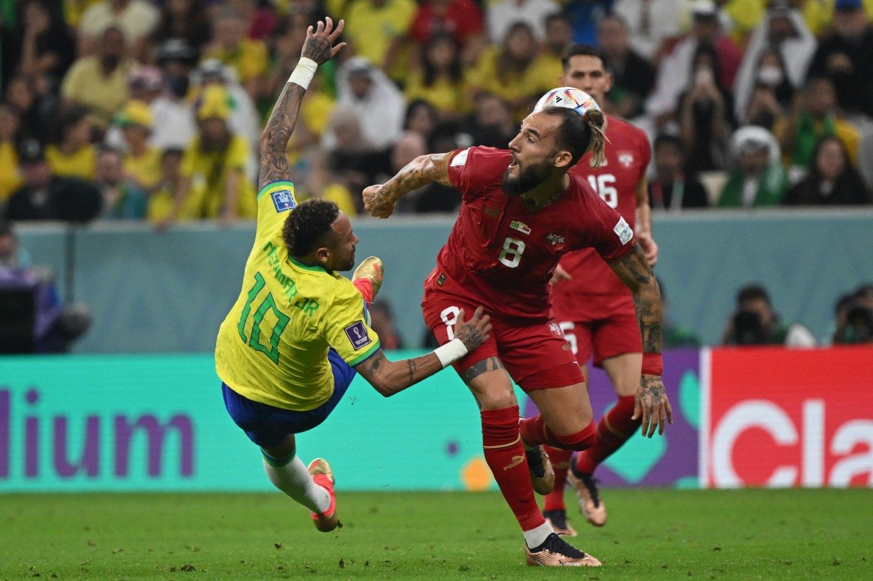
{"type": "Polygon", "coordinates": [[[312,80],[315,67],[327,62],[346,45],[340,43],[333,46],[339,38],[345,21],[340,20],[333,29],[333,21],[330,17],[324,22],[319,21],[313,31],[310,26],[306,31],[306,40],[303,50],[300,51],[300,61],[297,68],[285,83],[282,93],[278,96],[276,106],[270,113],[270,119],[261,133],[261,168],[258,177],[258,190],[273,181],[291,181],[291,168],[288,164],[288,140],[297,125],[297,116],[300,113],[300,102],[306,93],[306,87],[312,80]]]}

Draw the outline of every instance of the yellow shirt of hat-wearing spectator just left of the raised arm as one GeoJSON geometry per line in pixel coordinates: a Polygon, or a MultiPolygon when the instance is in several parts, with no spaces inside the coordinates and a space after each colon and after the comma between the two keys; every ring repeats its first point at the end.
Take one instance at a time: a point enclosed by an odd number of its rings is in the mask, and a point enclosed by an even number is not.
{"type": "Polygon", "coordinates": [[[182,220],[217,218],[224,203],[225,184],[228,174],[239,172],[237,215],[254,218],[258,208],[255,203],[255,187],[245,175],[249,160],[249,142],[240,135],[230,138],[224,151],[203,152],[197,136],[185,150],[182,158],[182,175],[191,181],[188,199],[182,207],[182,220]]]}

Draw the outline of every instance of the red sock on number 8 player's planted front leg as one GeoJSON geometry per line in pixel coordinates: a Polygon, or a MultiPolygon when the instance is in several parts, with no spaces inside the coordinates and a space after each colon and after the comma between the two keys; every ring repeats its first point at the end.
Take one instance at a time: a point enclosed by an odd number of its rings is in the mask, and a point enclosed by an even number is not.
{"type": "Polygon", "coordinates": [[[519,407],[485,410],[482,413],[482,447],[485,461],[521,530],[546,522],[533,499],[525,447],[519,438],[519,407]]]}

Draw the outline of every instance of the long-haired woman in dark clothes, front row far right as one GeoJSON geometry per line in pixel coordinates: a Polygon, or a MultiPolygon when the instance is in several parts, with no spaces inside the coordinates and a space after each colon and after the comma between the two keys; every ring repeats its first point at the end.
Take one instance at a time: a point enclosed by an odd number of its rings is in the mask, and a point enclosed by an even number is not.
{"type": "Polygon", "coordinates": [[[787,206],[869,204],[870,191],[849,161],[842,141],[825,136],[815,146],[809,173],[788,190],[782,203],[787,206]]]}

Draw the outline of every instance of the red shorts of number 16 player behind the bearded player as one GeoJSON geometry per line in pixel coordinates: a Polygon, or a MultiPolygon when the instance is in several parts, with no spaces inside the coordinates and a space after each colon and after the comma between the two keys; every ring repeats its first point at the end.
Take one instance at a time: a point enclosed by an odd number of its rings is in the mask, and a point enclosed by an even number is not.
{"type": "Polygon", "coordinates": [[[616,309],[606,318],[560,322],[561,331],[573,347],[579,365],[586,365],[592,355],[595,366],[600,367],[603,359],[643,352],[634,304],[628,306],[616,309]]]}

